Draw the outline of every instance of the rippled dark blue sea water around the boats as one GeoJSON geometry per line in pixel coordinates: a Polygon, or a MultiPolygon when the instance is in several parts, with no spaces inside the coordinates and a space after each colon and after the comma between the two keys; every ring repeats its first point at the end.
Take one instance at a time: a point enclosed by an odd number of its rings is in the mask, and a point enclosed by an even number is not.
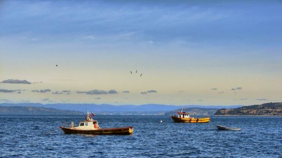
{"type": "Polygon", "coordinates": [[[81,135],[59,129],[63,121],[82,119],[0,115],[0,157],[282,157],[282,117],[212,116],[209,123],[174,123],[169,116],[95,116],[101,128],[133,125],[134,133],[81,135]],[[217,131],[215,124],[242,130],[217,131]]]}

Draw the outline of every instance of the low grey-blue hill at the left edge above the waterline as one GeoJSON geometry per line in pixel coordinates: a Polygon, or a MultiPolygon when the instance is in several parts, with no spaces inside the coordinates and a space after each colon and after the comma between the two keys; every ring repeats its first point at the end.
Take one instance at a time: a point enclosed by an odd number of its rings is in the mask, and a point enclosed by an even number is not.
{"type": "Polygon", "coordinates": [[[58,110],[33,106],[0,106],[0,114],[5,115],[83,115],[80,111],[58,110]]]}

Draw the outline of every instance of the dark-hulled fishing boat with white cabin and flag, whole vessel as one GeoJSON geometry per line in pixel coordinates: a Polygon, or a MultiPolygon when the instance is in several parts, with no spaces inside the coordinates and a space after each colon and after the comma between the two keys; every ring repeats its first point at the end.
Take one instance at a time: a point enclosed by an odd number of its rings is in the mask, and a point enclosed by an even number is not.
{"type": "MultiPolygon", "coordinates": [[[[94,114],[91,115],[93,116],[94,114]]],[[[85,120],[80,121],[78,126],[74,126],[74,122],[63,122],[63,124],[64,125],[59,128],[64,131],[65,134],[130,135],[133,133],[133,127],[102,129],[99,127],[98,121],[93,120],[88,111],[85,120]]]]}

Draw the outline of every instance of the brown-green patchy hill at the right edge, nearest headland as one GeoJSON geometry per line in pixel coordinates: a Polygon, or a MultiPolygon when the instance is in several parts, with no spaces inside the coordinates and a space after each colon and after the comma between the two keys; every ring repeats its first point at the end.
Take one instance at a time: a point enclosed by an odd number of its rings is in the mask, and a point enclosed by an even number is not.
{"type": "Polygon", "coordinates": [[[282,116],[282,103],[243,106],[235,109],[220,109],[214,115],[268,115],[282,116]]]}

